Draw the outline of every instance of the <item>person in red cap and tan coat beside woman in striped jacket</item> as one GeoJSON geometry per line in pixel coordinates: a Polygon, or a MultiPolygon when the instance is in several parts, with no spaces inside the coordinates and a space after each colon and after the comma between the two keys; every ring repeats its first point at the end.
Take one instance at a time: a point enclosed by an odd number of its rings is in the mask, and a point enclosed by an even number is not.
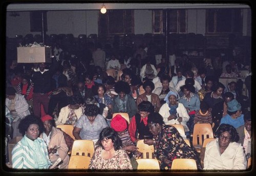
{"type": "Polygon", "coordinates": [[[63,132],[55,127],[53,118],[45,115],[41,118],[44,124],[44,131],[41,133],[40,138],[43,139],[48,146],[49,158],[54,163],[58,158],[62,162],[58,165],[60,169],[67,169],[69,164],[68,146],[65,141],[63,132]]]}

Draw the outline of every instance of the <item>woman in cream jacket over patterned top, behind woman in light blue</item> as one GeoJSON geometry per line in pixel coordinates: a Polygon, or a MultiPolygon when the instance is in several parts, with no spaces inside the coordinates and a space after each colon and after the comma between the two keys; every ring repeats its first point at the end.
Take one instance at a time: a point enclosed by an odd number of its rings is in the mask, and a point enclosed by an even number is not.
{"type": "Polygon", "coordinates": [[[83,114],[82,99],[78,95],[74,95],[69,99],[69,105],[60,109],[59,117],[56,125],[70,124],[75,125],[77,120],[83,114]]]}

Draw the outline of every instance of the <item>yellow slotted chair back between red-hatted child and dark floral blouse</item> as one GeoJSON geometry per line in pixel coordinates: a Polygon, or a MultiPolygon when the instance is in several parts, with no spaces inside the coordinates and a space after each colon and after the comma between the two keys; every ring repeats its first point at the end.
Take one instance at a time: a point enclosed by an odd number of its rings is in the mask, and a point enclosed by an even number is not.
{"type": "Polygon", "coordinates": [[[154,145],[147,145],[144,142],[144,139],[137,141],[138,151],[141,152],[141,159],[154,159],[154,145]]]}

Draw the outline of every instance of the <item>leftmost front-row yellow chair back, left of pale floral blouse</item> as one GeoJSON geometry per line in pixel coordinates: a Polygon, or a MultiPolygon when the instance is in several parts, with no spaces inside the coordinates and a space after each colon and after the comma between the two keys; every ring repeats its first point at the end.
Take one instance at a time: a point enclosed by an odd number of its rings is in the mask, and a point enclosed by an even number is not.
{"type": "Polygon", "coordinates": [[[69,169],[88,169],[91,158],[88,156],[73,155],[69,160],[69,169]]]}

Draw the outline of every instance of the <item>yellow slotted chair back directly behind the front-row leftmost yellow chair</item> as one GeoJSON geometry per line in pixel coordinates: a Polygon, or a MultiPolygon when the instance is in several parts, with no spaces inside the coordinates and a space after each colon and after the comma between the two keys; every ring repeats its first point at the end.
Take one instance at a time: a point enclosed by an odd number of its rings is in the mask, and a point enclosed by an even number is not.
{"type": "Polygon", "coordinates": [[[75,140],[73,143],[71,156],[80,155],[92,158],[94,151],[94,142],[92,140],[75,140]]]}

